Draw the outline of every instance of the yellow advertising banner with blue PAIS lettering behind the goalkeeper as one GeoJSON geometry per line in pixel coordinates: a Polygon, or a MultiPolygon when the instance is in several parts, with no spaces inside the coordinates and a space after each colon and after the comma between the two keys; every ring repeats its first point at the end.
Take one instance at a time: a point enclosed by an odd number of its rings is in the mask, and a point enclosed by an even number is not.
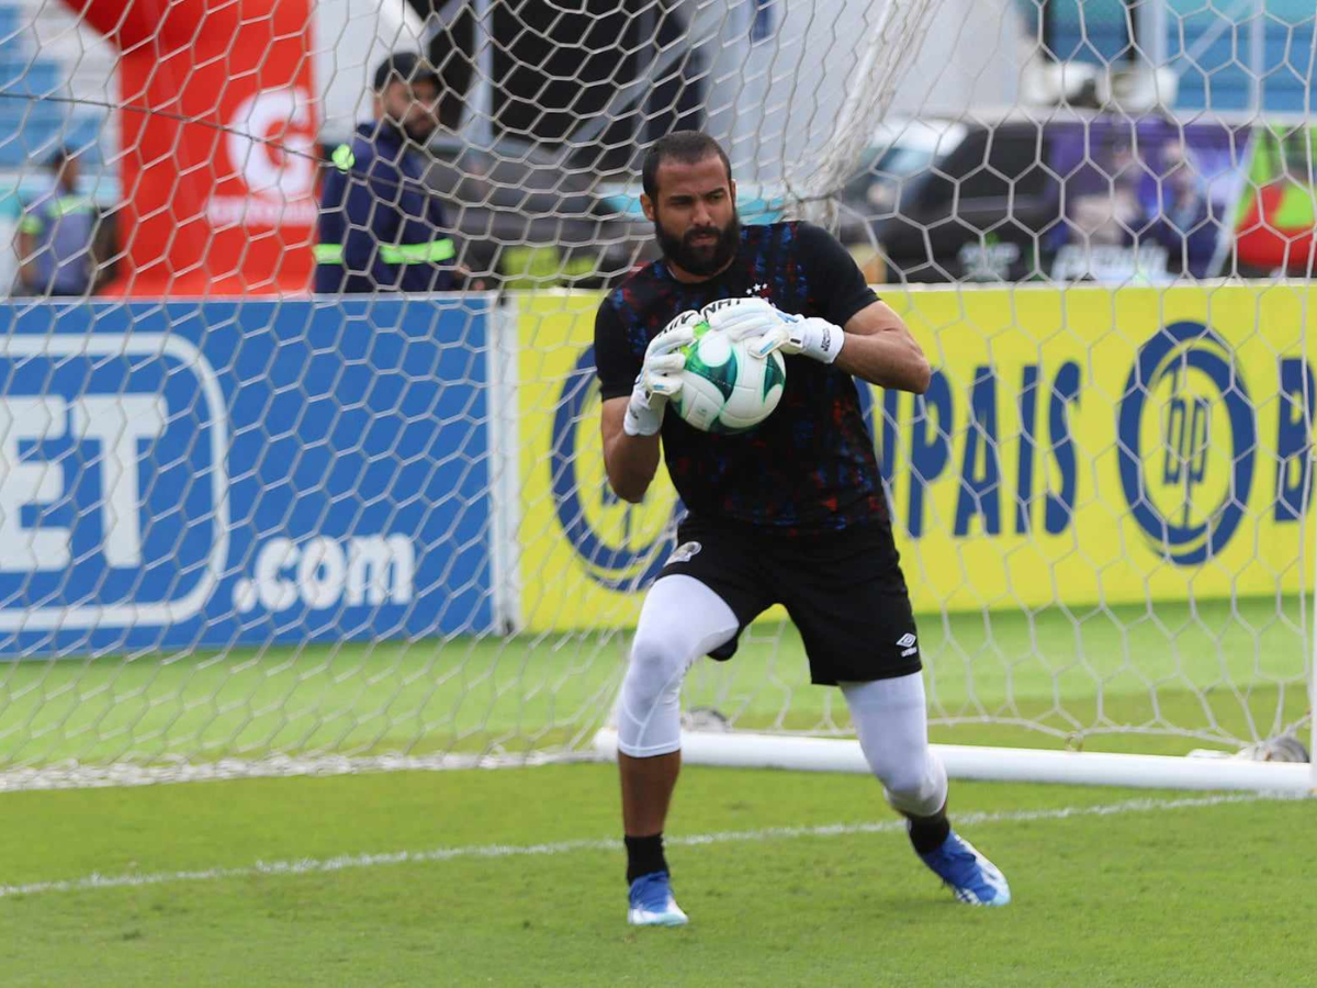
{"type": "MultiPolygon", "coordinates": [[[[884,291],[935,373],[861,389],[915,610],[1297,591],[1313,532],[1317,294],[1291,285],[884,291]],[[1309,519],[1310,520],[1310,519],[1309,519]]],[[[603,474],[598,295],[520,316],[531,630],[624,626],[676,506],[603,474]]]]}

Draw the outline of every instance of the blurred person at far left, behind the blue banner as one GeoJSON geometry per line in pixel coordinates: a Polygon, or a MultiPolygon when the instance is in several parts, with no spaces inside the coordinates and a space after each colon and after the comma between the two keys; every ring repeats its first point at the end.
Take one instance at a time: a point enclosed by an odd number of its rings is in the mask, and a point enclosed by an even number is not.
{"type": "Polygon", "coordinates": [[[78,157],[67,149],[47,162],[54,187],[18,221],[18,281],[25,295],[86,295],[96,277],[97,211],[78,194],[78,157]]]}

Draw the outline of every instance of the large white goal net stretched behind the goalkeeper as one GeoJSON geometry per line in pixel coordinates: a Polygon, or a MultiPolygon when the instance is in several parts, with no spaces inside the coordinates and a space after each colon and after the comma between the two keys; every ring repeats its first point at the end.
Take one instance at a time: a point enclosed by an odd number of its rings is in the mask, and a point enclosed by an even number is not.
{"type": "MultiPolygon", "coordinates": [[[[860,390],[952,769],[1306,788],[1317,33],[1242,9],[0,3],[0,788],[607,750],[681,506],[607,486],[593,317],[682,128],[934,364],[860,390]],[[313,294],[398,51],[439,126],[366,229],[452,291],[313,294]]],[[[684,705],[853,764],[778,610],[684,705]]]]}

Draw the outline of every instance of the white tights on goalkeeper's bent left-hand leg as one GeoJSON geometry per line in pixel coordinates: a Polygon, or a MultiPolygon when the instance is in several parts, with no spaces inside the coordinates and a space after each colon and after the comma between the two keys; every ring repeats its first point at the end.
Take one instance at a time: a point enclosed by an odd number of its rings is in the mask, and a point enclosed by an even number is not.
{"type": "Polygon", "coordinates": [[[618,748],[632,757],[681,747],[681,681],[699,656],[736,634],[736,615],[694,577],[658,580],[645,595],[618,706],[618,748]]]}

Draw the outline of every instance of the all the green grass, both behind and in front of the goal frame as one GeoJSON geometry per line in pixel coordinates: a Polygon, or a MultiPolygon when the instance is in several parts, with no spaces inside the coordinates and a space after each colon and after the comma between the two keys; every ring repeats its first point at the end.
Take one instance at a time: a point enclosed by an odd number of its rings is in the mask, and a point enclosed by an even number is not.
{"type": "MultiPolygon", "coordinates": [[[[934,736],[1230,748],[1304,717],[1303,627],[1295,599],[925,619],[934,736]]],[[[623,664],[605,634],[12,663],[0,768],[581,750],[623,664]]],[[[687,702],[844,726],[806,678],[756,626],[687,702]]],[[[939,888],[872,780],[687,767],[693,921],[633,931],[611,765],[0,792],[0,984],[1317,983],[1317,801],[954,782],[951,809],[1008,909],[939,888]]]]}

